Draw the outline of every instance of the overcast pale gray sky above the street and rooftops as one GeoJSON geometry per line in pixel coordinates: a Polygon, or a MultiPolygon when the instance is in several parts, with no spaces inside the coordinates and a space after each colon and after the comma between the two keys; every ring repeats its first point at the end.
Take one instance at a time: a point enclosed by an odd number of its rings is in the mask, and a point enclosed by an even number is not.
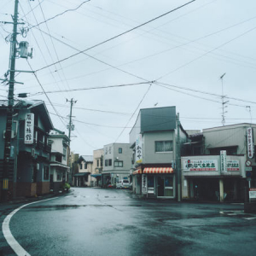
{"type": "MultiPolygon", "coordinates": [[[[16,81],[24,84],[15,84],[15,96],[28,92],[28,99],[44,100],[55,128],[66,134],[70,108],[66,99],[77,101],[71,144],[75,153],[92,154],[108,143],[129,143],[138,110],[155,104],[176,106],[185,130],[222,125],[224,73],[225,125],[249,123],[251,118],[255,122],[255,1],[84,2],[20,0],[19,5],[20,22],[26,23],[19,27],[30,29],[18,41],[33,48],[28,61],[38,70],[38,80],[55,109],[31,73],[17,75],[16,81]],[[185,3],[189,4],[177,9],[185,3]],[[153,21],[139,26],[149,20],[153,21]],[[79,51],[84,53],[75,55],[79,51]]],[[[1,0],[0,20],[11,21],[14,4],[1,0]]],[[[11,31],[11,25],[0,24],[0,78],[9,67],[11,31]]],[[[25,59],[17,59],[16,69],[30,67],[25,59]]],[[[1,99],[7,90],[7,85],[0,85],[1,99]]]]}

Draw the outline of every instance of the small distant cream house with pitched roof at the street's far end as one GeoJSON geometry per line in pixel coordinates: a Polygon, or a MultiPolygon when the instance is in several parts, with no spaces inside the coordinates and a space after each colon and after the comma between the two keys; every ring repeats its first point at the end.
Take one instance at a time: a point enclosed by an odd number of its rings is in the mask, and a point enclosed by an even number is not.
{"type": "MultiPolygon", "coordinates": [[[[79,172],[74,174],[74,186],[76,187],[90,187],[92,172],[92,155],[80,155],[77,165],[79,166],[79,172]]],[[[93,177],[94,178],[94,177],[93,177]]]]}

